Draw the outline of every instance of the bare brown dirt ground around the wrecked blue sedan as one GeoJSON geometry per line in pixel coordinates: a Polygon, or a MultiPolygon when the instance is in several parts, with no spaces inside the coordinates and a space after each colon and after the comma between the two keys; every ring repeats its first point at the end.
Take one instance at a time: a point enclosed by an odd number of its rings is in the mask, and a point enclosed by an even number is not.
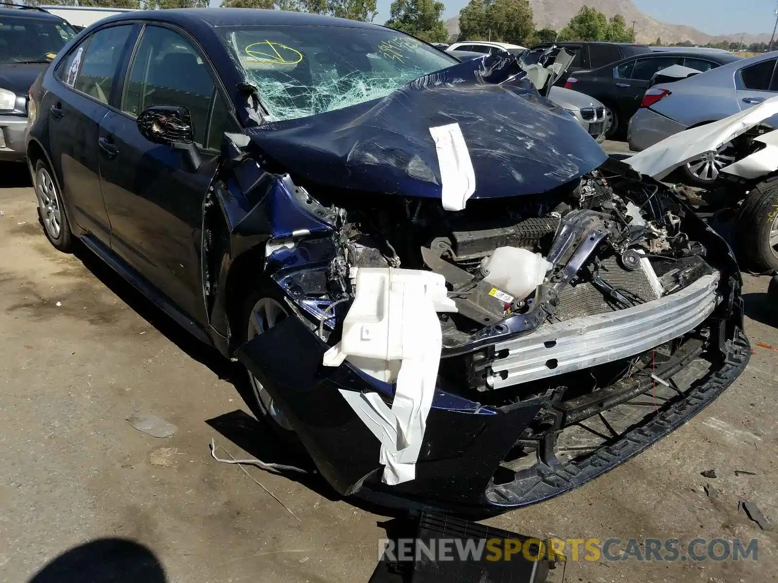
{"type": "MultiPolygon", "coordinates": [[[[239,458],[283,457],[230,380],[234,368],[88,252],[55,251],[25,169],[0,166],[0,211],[0,581],[367,581],[387,518],[315,479],[255,468],[250,477],[212,459],[212,439],[239,458]],[[134,412],[178,431],[145,435],[125,421],[134,412]],[[108,579],[100,568],[112,562],[122,574],[108,579]]],[[[778,347],[768,281],[745,276],[747,332],[778,347]]],[[[757,561],[569,561],[555,583],[778,581],[778,531],[737,510],[754,501],[778,520],[778,351],[754,349],[723,396],[648,452],[487,522],[561,538],[759,539],[757,561]],[[710,468],[717,478],[700,475],[710,468]]]]}

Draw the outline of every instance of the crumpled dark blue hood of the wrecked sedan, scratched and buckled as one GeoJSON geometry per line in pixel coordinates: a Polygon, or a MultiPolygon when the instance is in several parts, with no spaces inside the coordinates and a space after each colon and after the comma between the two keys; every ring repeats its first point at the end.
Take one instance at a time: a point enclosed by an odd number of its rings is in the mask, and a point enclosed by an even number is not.
{"type": "Polygon", "coordinates": [[[545,192],[607,158],[507,54],[426,75],[380,100],[246,132],[296,181],[440,198],[430,128],[451,124],[461,128],[475,173],[472,198],[545,192]]]}

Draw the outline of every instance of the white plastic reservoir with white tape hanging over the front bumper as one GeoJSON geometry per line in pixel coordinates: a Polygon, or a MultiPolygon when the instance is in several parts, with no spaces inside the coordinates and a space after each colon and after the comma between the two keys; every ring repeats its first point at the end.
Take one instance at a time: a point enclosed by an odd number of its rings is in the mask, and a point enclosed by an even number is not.
{"type": "Polygon", "coordinates": [[[325,366],[344,360],[384,382],[395,382],[391,409],[377,393],[340,389],[343,398],[381,443],[384,484],[415,477],[432,407],[442,336],[436,312],[456,312],[440,274],[408,269],[358,269],[356,297],[342,339],[325,366]]]}

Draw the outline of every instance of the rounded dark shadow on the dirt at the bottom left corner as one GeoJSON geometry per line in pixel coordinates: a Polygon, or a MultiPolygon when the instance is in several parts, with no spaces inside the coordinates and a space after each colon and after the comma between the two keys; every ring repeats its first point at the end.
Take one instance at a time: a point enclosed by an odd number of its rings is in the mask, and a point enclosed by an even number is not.
{"type": "Polygon", "coordinates": [[[166,583],[162,564],[128,539],[96,539],[66,550],[27,583],[166,583]]]}

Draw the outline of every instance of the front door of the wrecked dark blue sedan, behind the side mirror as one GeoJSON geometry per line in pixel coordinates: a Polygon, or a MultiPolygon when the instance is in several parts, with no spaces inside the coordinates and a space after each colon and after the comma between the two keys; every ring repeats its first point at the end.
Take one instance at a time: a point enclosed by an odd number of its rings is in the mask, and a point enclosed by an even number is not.
{"type": "Polygon", "coordinates": [[[121,104],[101,121],[98,140],[111,250],[202,324],[202,204],[216,173],[223,103],[193,41],[178,30],[145,26],[121,104]],[[180,152],[138,131],[136,117],[154,105],[189,110],[202,156],[195,172],[184,168],[180,152]]]}

